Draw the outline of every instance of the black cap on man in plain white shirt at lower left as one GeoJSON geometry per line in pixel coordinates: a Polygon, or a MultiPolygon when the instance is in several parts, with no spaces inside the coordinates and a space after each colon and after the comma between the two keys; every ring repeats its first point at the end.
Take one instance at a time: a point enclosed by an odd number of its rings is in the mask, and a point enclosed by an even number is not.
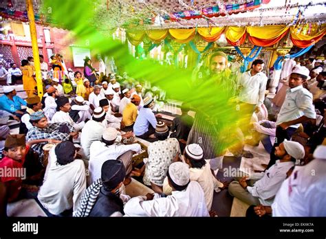
{"type": "Polygon", "coordinates": [[[63,141],[54,148],[56,161],[61,165],[66,165],[74,161],[75,146],[71,141],[63,141]]]}

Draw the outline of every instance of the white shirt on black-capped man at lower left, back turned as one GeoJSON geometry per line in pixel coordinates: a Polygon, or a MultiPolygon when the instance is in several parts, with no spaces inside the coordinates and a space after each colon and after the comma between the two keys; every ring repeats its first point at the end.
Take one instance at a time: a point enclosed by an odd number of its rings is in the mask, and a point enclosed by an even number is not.
{"type": "Polygon", "coordinates": [[[86,190],[86,173],[84,162],[80,159],[59,165],[54,148],[50,150],[49,163],[37,198],[51,214],[57,215],[72,207],[74,211],[78,208],[86,190]]]}

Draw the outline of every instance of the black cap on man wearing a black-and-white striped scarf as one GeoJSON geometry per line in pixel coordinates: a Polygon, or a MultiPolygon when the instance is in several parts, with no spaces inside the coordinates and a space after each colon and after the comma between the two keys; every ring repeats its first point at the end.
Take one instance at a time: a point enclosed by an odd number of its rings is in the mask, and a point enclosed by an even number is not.
{"type": "Polygon", "coordinates": [[[106,190],[111,191],[116,188],[124,181],[124,177],[126,177],[126,169],[120,160],[109,159],[103,163],[101,179],[106,190]]]}

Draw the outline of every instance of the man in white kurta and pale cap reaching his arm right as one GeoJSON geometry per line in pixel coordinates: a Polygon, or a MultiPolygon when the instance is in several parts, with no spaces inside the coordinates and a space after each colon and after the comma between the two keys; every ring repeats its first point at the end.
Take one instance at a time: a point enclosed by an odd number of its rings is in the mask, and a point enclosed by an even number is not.
{"type": "MultiPolygon", "coordinates": [[[[107,144],[108,141],[114,141],[118,137],[118,131],[115,128],[106,128],[103,135],[102,141],[94,141],[91,144],[90,148],[90,157],[89,157],[89,176],[90,183],[96,181],[96,179],[100,179],[102,164],[111,159],[118,159],[125,152],[131,150],[133,152],[139,153],[141,148],[140,144],[116,144],[113,143],[111,145],[107,144]],[[104,140],[105,141],[104,141],[104,140]]],[[[131,159],[122,160],[124,163],[124,167],[126,168],[126,173],[129,174],[132,169],[131,159]]]]}

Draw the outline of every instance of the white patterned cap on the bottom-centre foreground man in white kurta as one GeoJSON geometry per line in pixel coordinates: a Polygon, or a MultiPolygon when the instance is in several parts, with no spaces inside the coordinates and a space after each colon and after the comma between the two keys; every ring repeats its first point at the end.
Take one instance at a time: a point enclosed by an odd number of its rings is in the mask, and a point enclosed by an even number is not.
{"type": "Polygon", "coordinates": [[[190,181],[189,168],[186,163],[175,162],[169,166],[169,176],[173,183],[184,186],[190,181]]]}

